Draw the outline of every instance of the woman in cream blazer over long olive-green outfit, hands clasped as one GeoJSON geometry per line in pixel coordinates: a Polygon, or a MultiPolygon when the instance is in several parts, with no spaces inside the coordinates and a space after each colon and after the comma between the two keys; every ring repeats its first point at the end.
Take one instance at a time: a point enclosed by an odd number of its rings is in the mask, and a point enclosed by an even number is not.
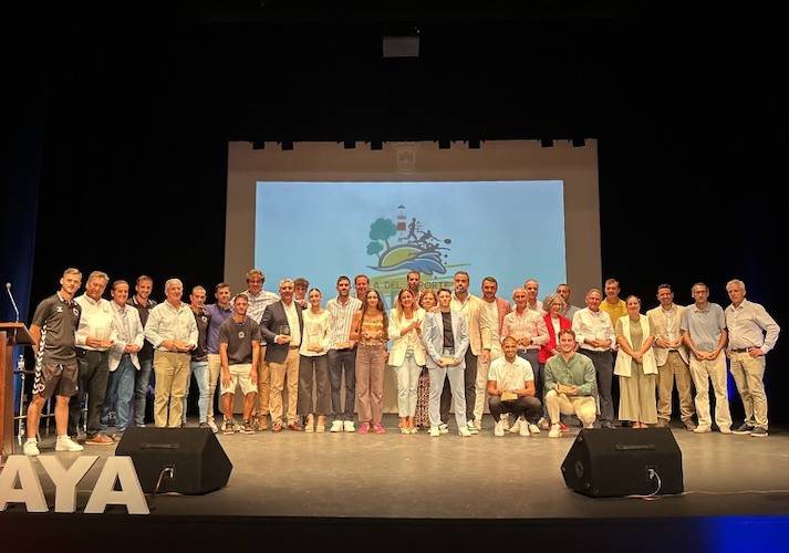
{"type": "Polygon", "coordinates": [[[641,314],[641,300],[631,295],[625,301],[627,316],[616,321],[616,355],[614,374],[620,377],[620,420],[631,420],[633,428],[657,424],[655,385],[657,362],[652,344],[655,331],[646,315],[641,314]]]}

